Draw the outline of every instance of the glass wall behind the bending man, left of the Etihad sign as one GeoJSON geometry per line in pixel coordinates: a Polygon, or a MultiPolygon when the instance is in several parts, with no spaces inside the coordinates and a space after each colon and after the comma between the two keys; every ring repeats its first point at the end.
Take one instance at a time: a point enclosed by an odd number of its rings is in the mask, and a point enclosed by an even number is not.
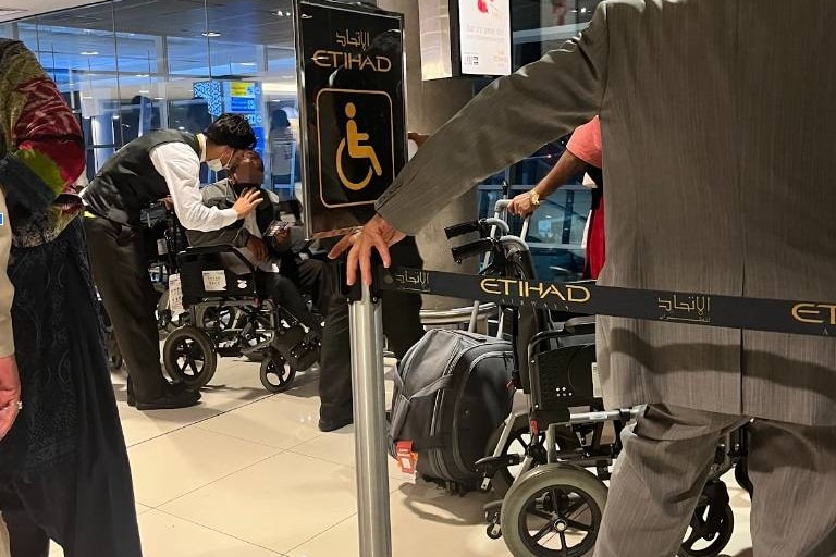
{"type": "Polygon", "coordinates": [[[0,36],[23,40],[75,110],[89,180],[139,135],[199,132],[222,112],[246,114],[269,165],[273,115],[297,122],[292,20],[291,0],[121,0],[2,24],[0,36]]]}

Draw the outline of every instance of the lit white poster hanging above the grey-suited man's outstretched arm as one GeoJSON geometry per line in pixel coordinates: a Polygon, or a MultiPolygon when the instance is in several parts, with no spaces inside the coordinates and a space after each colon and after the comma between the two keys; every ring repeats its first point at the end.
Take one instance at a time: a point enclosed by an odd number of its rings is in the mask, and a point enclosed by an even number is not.
{"type": "Polygon", "coordinates": [[[459,0],[463,75],[511,73],[511,0],[459,0]]]}

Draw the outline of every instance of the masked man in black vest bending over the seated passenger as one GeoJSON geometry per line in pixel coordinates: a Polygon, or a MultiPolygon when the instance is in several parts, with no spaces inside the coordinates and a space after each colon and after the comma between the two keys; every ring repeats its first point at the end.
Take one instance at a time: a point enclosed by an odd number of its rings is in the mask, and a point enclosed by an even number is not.
{"type": "Polygon", "coordinates": [[[249,214],[258,191],[242,195],[230,209],[206,207],[200,163],[219,172],[256,144],[244,116],[223,114],[202,134],[162,129],[120,149],[82,194],[93,275],[130,374],[128,404],[139,410],[185,408],[200,393],[171,385],[160,366],[155,309],[157,295],[143,249],[140,211],[171,197],[180,222],[189,230],[223,228],[249,214]]]}

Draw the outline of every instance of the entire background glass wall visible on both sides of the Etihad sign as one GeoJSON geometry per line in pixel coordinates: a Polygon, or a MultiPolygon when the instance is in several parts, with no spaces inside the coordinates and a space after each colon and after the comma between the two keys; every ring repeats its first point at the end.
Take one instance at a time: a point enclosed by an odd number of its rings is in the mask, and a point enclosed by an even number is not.
{"type": "MultiPolygon", "coordinates": [[[[511,1],[519,67],[576,35],[600,0],[511,1]]],[[[250,120],[269,175],[271,166],[288,166],[287,161],[272,164],[271,124],[281,120],[278,111],[288,116],[298,137],[291,9],[291,0],[111,0],[0,24],[0,36],[20,38],[36,52],[75,110],[87,143],[82,181],[148,131],[199,132],[224,111],[250,120]]],[[[512,195],[530,189],[564,146],[565,138],[544,146],[485,181],[480,211],[492,210],[504,181],[512,195]]],[[[294,182],[297,159],[290,164],[294,182]]],[[[213,178],[204,172],[205,182],[213,178]]],[[[582,270],[591,196],[581,180],[545,200],[531,223],[527,239],[543,278],[577,278],[582,270]]]]}

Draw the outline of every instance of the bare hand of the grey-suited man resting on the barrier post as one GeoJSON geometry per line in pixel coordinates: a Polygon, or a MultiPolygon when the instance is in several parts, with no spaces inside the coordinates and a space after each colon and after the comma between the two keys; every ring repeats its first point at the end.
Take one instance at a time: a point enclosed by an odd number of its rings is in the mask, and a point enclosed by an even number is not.
{"type": "Polygon", "coordinates": [[[383,267],[392,264],[389,247],[397,244],[406,237],[406,234],[389,224],[381,215],[376,214],[372,220],[354,234],[344,236],[328,253],[331,259],[336,259],[344,251],[348,251],[346,274],[348,286],[357,282],[357,268],[362,273],[362,283],[371,285],[371,249],[374,248],[383,260],[383,267]]]}

